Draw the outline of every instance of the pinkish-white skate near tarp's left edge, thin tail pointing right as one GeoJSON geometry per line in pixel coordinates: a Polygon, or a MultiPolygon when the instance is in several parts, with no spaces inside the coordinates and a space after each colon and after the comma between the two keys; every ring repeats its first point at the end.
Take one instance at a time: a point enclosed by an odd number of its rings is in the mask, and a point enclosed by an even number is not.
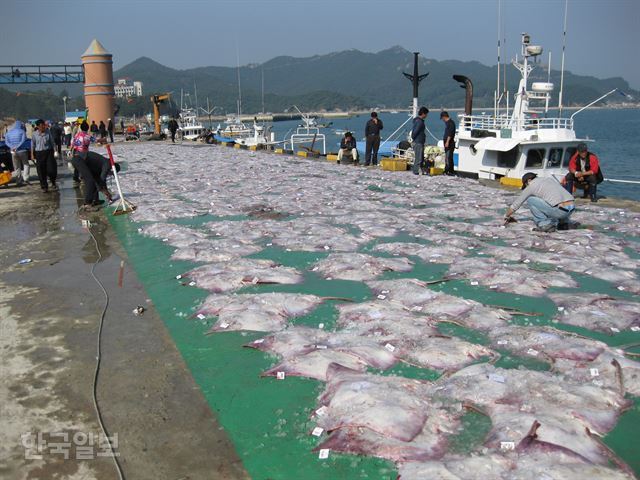
{"type": "Polygon", "coordinates": [[[310,312],[320,303],[320,297],[299,293],[210,295],[196,314],[218,317],[210,332],[272,332],[284,328],[290,319],[310,312]]]}

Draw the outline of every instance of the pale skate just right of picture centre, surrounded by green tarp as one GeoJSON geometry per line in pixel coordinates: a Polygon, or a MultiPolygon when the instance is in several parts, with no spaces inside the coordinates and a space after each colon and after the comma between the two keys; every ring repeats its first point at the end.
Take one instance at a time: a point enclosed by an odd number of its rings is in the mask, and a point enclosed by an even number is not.
{"type": "Polygon", "coordinates": [[[325,278],[339,280],[373,280],[384,272],[409,272],[413,263],[406,258],[383,258],[363,253],[332,253],[315,264],[325,278]]]}

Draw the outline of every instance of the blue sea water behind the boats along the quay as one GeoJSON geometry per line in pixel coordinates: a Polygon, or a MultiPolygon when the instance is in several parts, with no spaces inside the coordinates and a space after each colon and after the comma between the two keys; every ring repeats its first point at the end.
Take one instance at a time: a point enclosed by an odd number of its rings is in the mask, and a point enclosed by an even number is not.
{"type": "MultiPolygon", "coordinates": [[[[482,113],[482,109],[477,109],[476,113],[482,113]]],[[[489,110],[486,111],[490,113],[489,110]]],[[[570,116],[575,110],[565,110],[564,117],[570,116]]],[[[451,112],[452,118],[458,122],[457,112],[451,112]]],[[[551,116],[556,116],[557,112],[551,112],[551,116]]],[[[407,120],[407,114],[402,113],[380,113],[380,118],[384,123],[383,140],[393,133],[403,122],[407,120]]],[[[322,128],[321,133],[326,135],[327,152],[338,150],[338,144],[344,131],[353,132],[356,139],[364,138],[364,127],[369,120],[369,115],[358,115],[349,118],[320,118],[318,123],[330,124],[327,128],[322,128]]],[[[295,133],[296,127],[301,124],[301,120],[290,120],[276,122],[273,124],[276,139],[289,138],[295,133]]],[[[435,144],[436,139],[442,138],[444,123],[439,118],[439,111],[432,110],[427,117],[427,128],[433,136],[427,134],[427,141],[435,144]],[[435,138],[434,138],[435,137],[435,138]]],[[[400,131],[396,140],[392,143],[396,145],[398,141],[406,138],[406,132],[410,128],[411,122],[400,131]]],[[[632,180],[640,182],[640,170],[634,166],[640,163],[640,109],[591,109],[579,113],[575,117],[575,129],[579,138],[589,138],[594,140],[589,144],[589,149],[595,153],[602,164],[602,171],[605,178],[632,180]]],[[[316,142],[314,149],[321,150],[322,145],[316,142]]],[[[626,198],[640,201],[640,184],[623,184],[605,181],[598,188],[601,196],[626,198]]]]}

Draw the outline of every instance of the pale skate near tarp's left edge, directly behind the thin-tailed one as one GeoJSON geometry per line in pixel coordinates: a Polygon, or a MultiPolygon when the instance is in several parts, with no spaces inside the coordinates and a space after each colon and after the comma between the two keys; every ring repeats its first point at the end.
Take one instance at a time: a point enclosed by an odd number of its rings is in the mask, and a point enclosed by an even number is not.
{"type": "Polygon", "coordinates": [[[216,293],[238,290],[250,284],[295,284],[303,280],[302,275],[293,268],[283,267],[271,260],[246,258],[204,265],[183,276],[192,279],[199,288],[216,293]]]}

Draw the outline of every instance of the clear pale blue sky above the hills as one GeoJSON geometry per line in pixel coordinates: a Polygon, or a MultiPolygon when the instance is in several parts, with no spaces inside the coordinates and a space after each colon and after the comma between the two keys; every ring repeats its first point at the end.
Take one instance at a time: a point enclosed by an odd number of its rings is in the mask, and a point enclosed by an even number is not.
{"type": "MultiPolygon", "coordinates": [[[[172,68],[262,63],[400,45],[437,60],[497,63],[520,34],[560,69],[565,0],[2,0],[0,64],[78,64],[97,38],[117,69],[141,56],[172,68]],[[501,8],[498,8],[498,5],[501,8]],[[498,11],[501,22],[498,22],[498,11]]],[[[566,69],[640,89],[640,0],[569,0],[566,69]]],[[[339,72],[334,72],[339,74],[339,72]]]]}

